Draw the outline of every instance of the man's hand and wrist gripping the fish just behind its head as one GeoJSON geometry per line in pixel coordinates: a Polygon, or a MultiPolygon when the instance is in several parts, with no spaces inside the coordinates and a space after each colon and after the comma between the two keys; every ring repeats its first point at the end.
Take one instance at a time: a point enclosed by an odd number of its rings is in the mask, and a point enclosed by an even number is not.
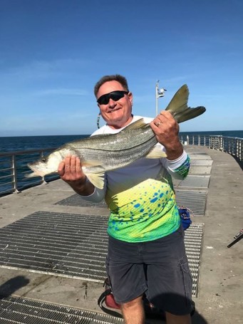
{"type": "Polygon", "coordinates": [[[94,186],[91,182],[86,182],[79,157],[66,157],[58,166],[58,174],[78,194],[88,196],[93,193],[94,186]]]}

